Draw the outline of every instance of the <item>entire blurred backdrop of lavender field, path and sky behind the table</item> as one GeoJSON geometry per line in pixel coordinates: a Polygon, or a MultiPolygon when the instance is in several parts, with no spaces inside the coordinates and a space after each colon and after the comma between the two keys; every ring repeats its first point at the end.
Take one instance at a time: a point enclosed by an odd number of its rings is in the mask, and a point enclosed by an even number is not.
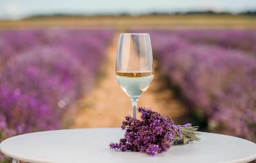
{"type": "Polygon", "coordinates": [[[150,33],[155,76],[138,106],[256,143],[255,0],[1,0],[0,141],[120,127],[132,114],[115,78],[124,32],[150,33]]]}

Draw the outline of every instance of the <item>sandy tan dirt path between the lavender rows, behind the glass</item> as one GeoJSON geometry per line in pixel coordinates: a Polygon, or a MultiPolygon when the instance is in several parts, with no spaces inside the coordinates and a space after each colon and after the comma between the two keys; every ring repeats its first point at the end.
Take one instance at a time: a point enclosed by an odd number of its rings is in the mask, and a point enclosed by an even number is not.
{"type": "MultiPolygon", "coordinates": [[[[120,127],[124,117],[132,115],[131,100],[122,91],[115,77],[119,34],[115,33],[113,42],[107,49],[107,62],[103,68],[104,78],[90,94],[81,99],[78,106],[81,110],[70,128],[120,127]]],[[[164,116],[171,116],[177,124],[183,123],[186,121],[186,108],[179,100],[173,98],[173,93],[169,89],[164,89],[165,87],[166,84],[160,78],[159,72],[155,71],[152,84],[139,98],[138,107],[151,107],[164,116]]]]}

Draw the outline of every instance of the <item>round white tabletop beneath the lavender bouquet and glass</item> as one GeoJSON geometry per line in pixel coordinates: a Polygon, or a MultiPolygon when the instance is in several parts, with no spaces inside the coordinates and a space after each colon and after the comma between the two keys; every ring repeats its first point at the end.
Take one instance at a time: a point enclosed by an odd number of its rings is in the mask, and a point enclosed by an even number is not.
{"type": "Polygon", "coordinates": [[[13,162],[30,163],[246,163],[256,159],[256,144],[242,138],[202,133],[200,142],[173,145],[155,157],[140,152],[110,150],[124,136],[120,128],[34,132],[0,144],[13,162]]]}

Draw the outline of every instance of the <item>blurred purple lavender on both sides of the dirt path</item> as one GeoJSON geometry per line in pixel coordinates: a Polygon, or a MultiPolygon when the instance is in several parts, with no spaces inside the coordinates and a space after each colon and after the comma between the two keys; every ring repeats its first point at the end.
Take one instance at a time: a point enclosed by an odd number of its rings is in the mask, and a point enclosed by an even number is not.
{"type": "MultiPolygon", "coordinates": [[[[256,31],[128,32],[150,33],[159,71],[189,108],[193,125],[256,142],[256,31]]],[[[92,91],[114,33],[0,31],[0,141],[61,129],[72,105],[92,91]]]]}

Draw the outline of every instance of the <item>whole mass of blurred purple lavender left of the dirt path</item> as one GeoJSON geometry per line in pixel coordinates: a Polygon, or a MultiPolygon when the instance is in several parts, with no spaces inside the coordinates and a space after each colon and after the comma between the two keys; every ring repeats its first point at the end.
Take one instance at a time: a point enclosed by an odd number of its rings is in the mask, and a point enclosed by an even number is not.
{"type": "Polygon", "coordinates": [[[60,129],[92,87],[114,30],[0,31],[0,141],[60,129]]]}

